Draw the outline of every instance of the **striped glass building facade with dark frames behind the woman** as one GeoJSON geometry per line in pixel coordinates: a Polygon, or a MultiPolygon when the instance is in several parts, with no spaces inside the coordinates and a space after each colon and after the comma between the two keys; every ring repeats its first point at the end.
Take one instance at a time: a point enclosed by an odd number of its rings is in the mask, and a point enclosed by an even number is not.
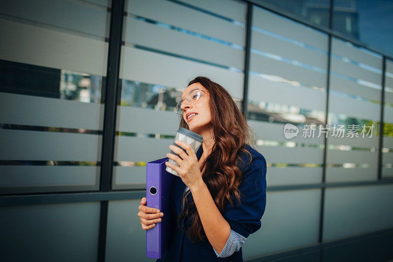
{"type": "Polygon", "coordinates": [[[146,163],[198,75],[267,161],[245,261],[392,258],[392,17],[384,0],[1,1],[2,258],[153,261],[146,163]]]}

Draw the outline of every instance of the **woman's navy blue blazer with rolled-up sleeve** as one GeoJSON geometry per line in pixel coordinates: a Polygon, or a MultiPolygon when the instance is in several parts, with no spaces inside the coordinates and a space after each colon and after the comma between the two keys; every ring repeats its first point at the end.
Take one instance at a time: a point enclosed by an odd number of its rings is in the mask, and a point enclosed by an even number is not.
{"type": "MultiPolygon", "coordinates": [[[[243,160],[238,163],[238,168],[243,174],[242,182],[239,185],[241,204],[238,205],[236,199],[233,198],[235,200],[234,205],[231,206],[228,203],[223,214],[230,228],[244,237],[248,237],[260,229],[261,218],[266,206],[266,160],[253,147],[246,145],[246,149],[250,151],[253,159],[249,165],[246,165],[250,161],[249,154],[239,152],[243,160]]],[[[197,151],[198,160],[202,152],[203,148],[200,146],[197,151]]],[[[194,243],[187,234],[181,231],[176,223],[176,218],[181,211],[181,201],[185,188],[186,185],[181,178],[176,176],[169,198],[170,202],[173,203],[171,204],[171,216],[174,218],[172,220],[172,233],[167,250],[162,258],[156,262],[243,261],[242,248],[229,257],[218,258],[208,240],[194,243]]],[[[193,202],[191,192],[187,195],[187,198],[188,203],[193,202]]],[[[188,221],[184,221],[181,226],[186,229],[189,228],[190,224],[188,221]]]]}

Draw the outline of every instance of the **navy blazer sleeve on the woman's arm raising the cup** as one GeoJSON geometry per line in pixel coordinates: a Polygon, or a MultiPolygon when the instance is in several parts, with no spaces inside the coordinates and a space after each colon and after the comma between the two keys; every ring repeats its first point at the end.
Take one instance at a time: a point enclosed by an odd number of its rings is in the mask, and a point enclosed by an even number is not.
{"type": "Polygon", "coordinates": [[[239,185],[240,204],[233,197],[233,206],[228,202],[223,214],[231,230],[246,238],[261,228],[266,207],[266,160],[257,151],[251,153],[253,159],[249,165],[248,154],[242,157],[244,163],[238,165],[243,175],[239,185]]]}

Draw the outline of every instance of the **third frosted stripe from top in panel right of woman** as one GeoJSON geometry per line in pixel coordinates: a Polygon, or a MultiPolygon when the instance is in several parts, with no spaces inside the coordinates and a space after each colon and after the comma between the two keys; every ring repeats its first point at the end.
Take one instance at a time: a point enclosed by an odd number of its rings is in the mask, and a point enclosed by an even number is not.
{"type": "Polygon", "coordinates": [[[250,70],[295,80],[308,86],[325,87],[326,85],[324,73],[256,54],[250,56],[250,70]]]}

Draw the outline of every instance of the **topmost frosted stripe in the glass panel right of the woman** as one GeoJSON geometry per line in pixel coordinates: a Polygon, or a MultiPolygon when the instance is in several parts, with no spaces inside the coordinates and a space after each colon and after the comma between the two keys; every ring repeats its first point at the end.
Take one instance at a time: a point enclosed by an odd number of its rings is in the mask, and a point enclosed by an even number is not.
{"type": "Polygon", "coordinates": [[[253,26],[308,44],[323,51],[328,50],[328,37],[292,20],[253,6],[253,26]]]}

